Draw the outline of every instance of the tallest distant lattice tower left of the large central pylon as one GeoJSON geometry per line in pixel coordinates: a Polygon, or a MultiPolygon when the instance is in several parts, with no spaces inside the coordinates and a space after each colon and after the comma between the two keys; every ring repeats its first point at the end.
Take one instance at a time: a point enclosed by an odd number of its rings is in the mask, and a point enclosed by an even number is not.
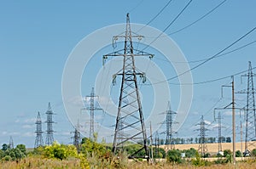
{"type": "MultiPolygon", "coordinates": [[[[101,108],[96,107],[95,104],[95,99],[98,98],[98,96],[95,95],[94,93],[94,87],[91,88],[91,93],[90,96],[86,96],[86,98],[90,99],[90,107],[86,107],[85,109],[82,110],[90,110],[90,132],[89,132],[89,137],[91,140],[94,139],[94,111],[96,110],[102,110],[101,108]]],[[[96,141],[96,140],[94,140],[96,141]]]]}

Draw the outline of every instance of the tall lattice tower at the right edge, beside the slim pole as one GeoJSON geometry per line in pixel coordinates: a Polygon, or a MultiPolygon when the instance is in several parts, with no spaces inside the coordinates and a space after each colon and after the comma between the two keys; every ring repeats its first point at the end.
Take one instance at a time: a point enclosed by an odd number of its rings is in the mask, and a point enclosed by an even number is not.
{"type": "MultiPolygon", "coordinates": [[[[245,137],[245,152],[249,150],[248,144],[253,144],[252,140],[256,138],[256,115],[255,115],[255,100],[254,100],[254,87],[253,87],[253,69],[251,62],[249,62],[247,75],[247,105],[246,105],[246,137],[245,137]]],[[[252,150],[252,149],[251,149],[252,150]]]]}

